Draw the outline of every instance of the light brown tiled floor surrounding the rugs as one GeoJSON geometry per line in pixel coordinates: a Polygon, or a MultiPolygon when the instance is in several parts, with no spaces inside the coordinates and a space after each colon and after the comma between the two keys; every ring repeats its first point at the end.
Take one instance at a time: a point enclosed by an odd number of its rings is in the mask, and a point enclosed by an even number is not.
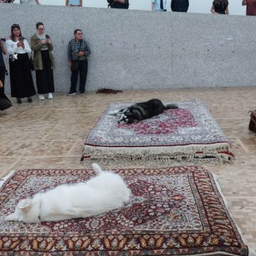
{"type": "Polygon", "coordinates": [[[125,91],[113,94],[54,95],[23,100],[0,112],[0,177],[18,169],[82,169],[80,155],[90,129],[110,102],[164,102],[199,98],[235,149],[234,164],[206,166],[217,174],[230,212],[247,244],[256,250],[256,134],[248,130],[256,109],[255,88],[125,91]]]}

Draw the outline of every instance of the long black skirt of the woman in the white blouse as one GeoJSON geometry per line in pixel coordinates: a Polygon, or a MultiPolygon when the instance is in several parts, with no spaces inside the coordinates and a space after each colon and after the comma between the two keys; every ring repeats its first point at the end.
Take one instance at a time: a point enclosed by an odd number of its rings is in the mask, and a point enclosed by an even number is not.
{"type": "Polygon", "coordinates": [[[28,53],[18,54],[18,60],[9,59],[11,97],[31,97],[36,95],[31,75],[28,53]]]}

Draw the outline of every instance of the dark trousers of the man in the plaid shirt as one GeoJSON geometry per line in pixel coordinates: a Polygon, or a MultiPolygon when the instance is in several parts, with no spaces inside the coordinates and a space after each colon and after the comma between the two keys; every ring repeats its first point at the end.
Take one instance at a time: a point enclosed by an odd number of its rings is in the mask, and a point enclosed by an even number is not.
{"type": "Polygon", "coordinates": [[[76,92],[76,86],[78,83],[78,73],[80,73],[80,86],[79,91],[85,92],[85,82],[87,78],[88,62],[86,60],[81,60],[79,62],[79,68],[76,71],[72,71],[71,74],[71,87],[70,92],[76,92]]]}

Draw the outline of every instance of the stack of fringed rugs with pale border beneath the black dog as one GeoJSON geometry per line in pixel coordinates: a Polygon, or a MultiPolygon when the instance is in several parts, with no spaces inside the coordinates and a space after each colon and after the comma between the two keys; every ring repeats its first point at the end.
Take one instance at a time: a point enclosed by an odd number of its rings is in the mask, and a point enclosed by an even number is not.
{"type": "Polygon", "coordinates": [[[81,161],[104,165],[169,166],[171,162],[232,163],[228,138],[200,100],[178,102],[137,124],[118,124],[108,114],[132,103],[111,103],[88,134],[81,161]]]}

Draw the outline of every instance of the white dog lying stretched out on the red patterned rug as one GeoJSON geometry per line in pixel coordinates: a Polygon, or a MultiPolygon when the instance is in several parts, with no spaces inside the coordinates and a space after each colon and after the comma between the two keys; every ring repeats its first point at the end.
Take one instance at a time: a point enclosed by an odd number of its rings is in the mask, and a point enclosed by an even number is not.
{"type": "Polygon", "coordinates": [[[85,218],[120,208],[129,201],[131,191],[121,176],[102,171],[97,164],[92,168],[97,176],[89,181],[60,185],[36,193],[32,199],[23,199],[5,220],[38,223],[85,218]]]}

